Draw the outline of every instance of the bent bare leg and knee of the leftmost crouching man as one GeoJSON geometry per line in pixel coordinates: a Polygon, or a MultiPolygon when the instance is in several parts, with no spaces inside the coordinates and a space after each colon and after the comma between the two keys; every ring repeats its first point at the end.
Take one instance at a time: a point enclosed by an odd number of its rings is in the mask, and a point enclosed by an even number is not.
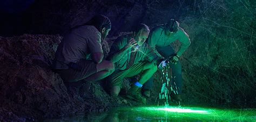
{"type": "Polygon", "coordinates": [[[109,76],[114,71],[114,66],[111,61],[102,61],[101,63],[97,64],[97,73],[90,75],[89,77],[85,78],[85,81],[98,81],[102,80],[103,78],[109,76]]]}

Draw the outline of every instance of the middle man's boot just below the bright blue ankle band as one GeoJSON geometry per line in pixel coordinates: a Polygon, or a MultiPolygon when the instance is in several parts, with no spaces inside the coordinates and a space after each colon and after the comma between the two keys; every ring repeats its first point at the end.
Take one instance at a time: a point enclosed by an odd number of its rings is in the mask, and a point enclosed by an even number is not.
{"type": "Polygon", "coordinates": [[[133,99],[134,101],[146,103],[146,98],[140,93],[139,87],[132,85],[126,95],[127,98],[133,99]]]}

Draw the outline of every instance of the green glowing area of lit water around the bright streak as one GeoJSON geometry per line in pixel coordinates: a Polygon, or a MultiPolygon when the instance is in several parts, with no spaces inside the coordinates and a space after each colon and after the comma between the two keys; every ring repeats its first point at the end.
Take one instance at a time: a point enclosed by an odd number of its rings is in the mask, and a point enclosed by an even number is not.
{"type": "Polygon", "coordinates": [[[253,109],[214,109],[203,107],[123,107],[119,112],[129,112],[129,116],[150,120],[221,120],[221,121],[256,121],[253,109]]]}

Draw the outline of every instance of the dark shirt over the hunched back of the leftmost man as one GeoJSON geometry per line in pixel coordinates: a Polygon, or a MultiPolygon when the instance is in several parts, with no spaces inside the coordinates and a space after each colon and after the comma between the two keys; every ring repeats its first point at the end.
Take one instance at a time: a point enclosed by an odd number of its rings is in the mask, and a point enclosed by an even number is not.
{"type": "Polygon", "coordinates": [[[55,69],[67,69],[66,64],[90,59],[91,53],[102,53],[101,34],[94,26],[79,26],[60,42],[55,54],[55,69]]]}

